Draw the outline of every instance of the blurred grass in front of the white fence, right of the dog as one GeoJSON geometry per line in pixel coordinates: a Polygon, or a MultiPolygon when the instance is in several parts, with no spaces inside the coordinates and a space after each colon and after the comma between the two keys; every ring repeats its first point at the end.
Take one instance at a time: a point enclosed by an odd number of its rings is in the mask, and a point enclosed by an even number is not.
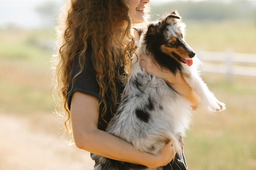
{"type": "Polygon", "coordinates": [[[184,140],[190,169],[243,170],[256,168],[256,79],[202,75],[215,96],[226,103],[226,111],[209,113],[201,107],[184,140]]]}

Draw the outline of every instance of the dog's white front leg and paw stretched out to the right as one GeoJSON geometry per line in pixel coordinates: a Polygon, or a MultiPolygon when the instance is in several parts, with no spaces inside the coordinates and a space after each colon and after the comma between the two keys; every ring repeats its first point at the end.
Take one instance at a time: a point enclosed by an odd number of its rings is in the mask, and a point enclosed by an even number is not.
{"type": "Polygon", "coordinates": [[[199,75],[184,77],[184,79],[198,95],[200,102],[202,102],[210,111],[217,112],[226,109],[225,104],[215,98],[213,93],[209,90],[199,75]]]}

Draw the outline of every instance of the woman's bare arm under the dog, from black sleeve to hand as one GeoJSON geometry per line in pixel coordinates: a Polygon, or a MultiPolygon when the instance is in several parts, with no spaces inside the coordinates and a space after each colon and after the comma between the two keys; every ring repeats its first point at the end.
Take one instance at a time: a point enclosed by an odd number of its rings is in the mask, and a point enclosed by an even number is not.
{"type": "Polygon", "coordinates": [[[171,143],[157,155],[136,150],[131,143],[101,131],[98,125],[98,99],[75,92],[71,100],[71,121],[75,144],[78,148],[110,159],[140,164],[149,168],[167,165],[174,157],[171,143]]]}

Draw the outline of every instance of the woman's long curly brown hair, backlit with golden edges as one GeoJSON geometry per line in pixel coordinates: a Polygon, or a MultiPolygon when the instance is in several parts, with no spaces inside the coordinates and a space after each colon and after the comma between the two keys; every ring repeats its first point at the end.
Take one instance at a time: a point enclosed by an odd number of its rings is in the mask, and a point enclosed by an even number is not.
{"type": "Polygon", "coordinates": [[[74,57],[79,57],[80,72],[72,78],[72,82],[84,69],[87,43],[90,42],[100,87],[99,105],[103,106],[100,115],[104,120],[107,89],[112,91],[111,99],[115,106],[117,103],[114,80],[118,75],[115,68],[124,64],[125,73],[129,74],[131,57],[127,51],[134,49],[131,26],[127,0],[67,0],[63,6],[56,28],[59,47],[53,57],[56,81],[54,96],[60,99],[57,113],[63,116],[70,139],[72,128],[66,96],[74,57]]]}

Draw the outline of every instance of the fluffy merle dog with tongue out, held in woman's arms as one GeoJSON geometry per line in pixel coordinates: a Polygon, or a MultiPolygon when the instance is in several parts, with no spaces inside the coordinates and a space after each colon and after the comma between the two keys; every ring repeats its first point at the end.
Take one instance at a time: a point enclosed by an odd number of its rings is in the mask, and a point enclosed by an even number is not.
{"type": "MultiPolygon", "coordinates": [[[[210,111],[225,109],[225,104],[214,97],[200,78],[199,60],[184,40],[184,29],[185,24],[180,15],[173,11],[167,17],[150,23],[142,32],[120,104],[106,130],[132,143],[140,151],[157,154],[171,140],[177,153],[181,154],[180,140],[189,128],[192,111],[191,103],[170,84],[147,74],[141,68],[140,55],[152,56],[162,68],[174,75],[181,73],[210,111]]],[[[95,165],[95,170],[149,170],[142,165],[96,154],[92,154],[92,158],[99,163],[95,165]]]]}

